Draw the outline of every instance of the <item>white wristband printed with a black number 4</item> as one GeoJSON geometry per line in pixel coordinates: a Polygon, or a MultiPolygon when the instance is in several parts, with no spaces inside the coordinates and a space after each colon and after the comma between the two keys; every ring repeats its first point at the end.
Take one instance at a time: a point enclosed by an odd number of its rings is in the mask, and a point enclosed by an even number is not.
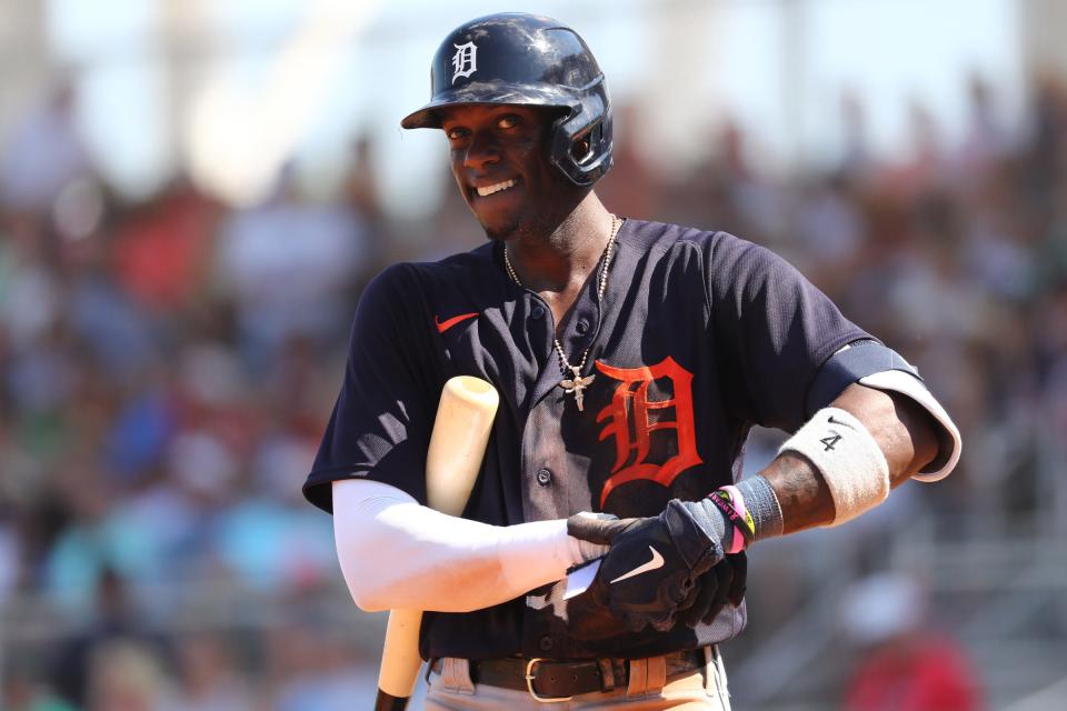
{"type": "Polygon", "coordinates": [[[840,525],[889,495],[889,464],[864,423],[839,408],[824,408],[778,449],[806,457],[834,497],[840,525]]]}

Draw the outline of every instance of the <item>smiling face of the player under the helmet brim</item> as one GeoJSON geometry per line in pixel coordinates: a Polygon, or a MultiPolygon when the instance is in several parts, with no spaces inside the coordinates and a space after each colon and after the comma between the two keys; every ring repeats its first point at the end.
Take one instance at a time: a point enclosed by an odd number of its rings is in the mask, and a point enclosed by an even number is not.
{"type": "Polygon", "coordinates": [[[556,116],[511,104],[440,110],[452,174],[489,239],[551,231],[588,192],[549,162],[556,116]]]}

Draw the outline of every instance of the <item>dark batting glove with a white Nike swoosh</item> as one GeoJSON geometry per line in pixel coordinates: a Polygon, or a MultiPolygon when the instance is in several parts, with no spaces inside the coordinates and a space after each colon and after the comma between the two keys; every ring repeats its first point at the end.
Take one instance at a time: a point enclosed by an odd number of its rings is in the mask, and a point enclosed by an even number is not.
{"type": "Polygon", "coordinates": [[[698,578],[724,557],[721,534],[706,530],[706,522],[677,499],[655,518],[575,515],[567,532],[610,545],[590,592],[635,632],[649,624],[660,632],[674,628],[678,613],[697,600],[698,578]]]}

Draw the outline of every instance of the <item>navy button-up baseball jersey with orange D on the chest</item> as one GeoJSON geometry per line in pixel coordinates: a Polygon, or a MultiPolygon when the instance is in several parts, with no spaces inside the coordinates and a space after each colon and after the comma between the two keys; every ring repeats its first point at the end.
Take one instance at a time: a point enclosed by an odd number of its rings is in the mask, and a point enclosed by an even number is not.
{"type": "MultiPolygon", "coordinates": [[[[579,511],[656,515],[740,474],[752,424],[792,431],[805,394],[842,346],[870,338],[772,252],[722,232],[627,220],[607,290],[596,272],[562,323],[571,362],[595,374],[579,411],[552,346],[548,306],[509,279],[502,243],[383,271],[357,309],[343,385],[305,494],[368,478],[426,503],[426,452],[441,388],[477,375],[500,392],[463,517],[497,525],[579,511]]],[[[569,375],[569,373],[568,373],[569,375]]],[[[826,403],[817,403],[826,404],[826,403]]],[[[744,605],[708,625],[632,633],[565,609],[561,583],[469,613],[427,613],[420,652],[640,658],[740,632],[744,605]],[[568,612],[570,619],[568,620],[568,612]],[[571,625],[586,625],[578,641],[571,625]],[[590,641],[596,640],[596,641],[590,641]]]]}

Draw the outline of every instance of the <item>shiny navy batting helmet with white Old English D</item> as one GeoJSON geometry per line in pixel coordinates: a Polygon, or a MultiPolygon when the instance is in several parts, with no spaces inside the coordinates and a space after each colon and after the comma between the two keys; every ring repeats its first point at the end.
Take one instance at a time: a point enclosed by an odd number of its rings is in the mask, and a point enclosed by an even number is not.
{"type": "Polygon", "coordinates": [[[551,162],[579,186],[611,168],[604,73],[578,33],[551,18],[501,12],[460,26],[433,56],[430,94],[403,128],[440,128],[436,110],[458,103],[555,107],[551,162]]]}

